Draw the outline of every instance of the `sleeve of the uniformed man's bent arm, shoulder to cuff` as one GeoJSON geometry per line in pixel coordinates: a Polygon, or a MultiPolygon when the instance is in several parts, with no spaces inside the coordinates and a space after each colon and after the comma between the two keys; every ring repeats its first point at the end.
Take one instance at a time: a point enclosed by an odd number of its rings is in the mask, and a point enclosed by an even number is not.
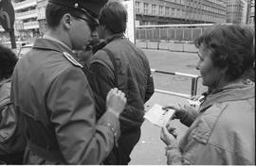
{"type": "Polygon", "coordinates": [[[68,164],[100,164],[119,135],[119,120],[106,112],[96,124],[92,91],[80,68],[68,68],[47,95],[50,120],[68,164]]]}

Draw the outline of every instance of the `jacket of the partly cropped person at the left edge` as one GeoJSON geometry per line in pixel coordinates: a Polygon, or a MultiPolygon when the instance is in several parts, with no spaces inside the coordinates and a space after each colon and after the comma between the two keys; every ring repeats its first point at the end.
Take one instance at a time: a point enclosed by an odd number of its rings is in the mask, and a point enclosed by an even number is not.
{"type": "Polygon", "coordinates": [[[10,79],[4,79],[0,81],[0,160],[1,156],[23,153],[26,146],[9,95],[10,79]]]}

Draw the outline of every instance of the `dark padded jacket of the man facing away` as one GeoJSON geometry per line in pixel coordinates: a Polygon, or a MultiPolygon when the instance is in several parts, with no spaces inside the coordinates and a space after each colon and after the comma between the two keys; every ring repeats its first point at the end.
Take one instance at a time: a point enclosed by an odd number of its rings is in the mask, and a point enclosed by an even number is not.
{"type": "Polygon", "coordinates": [[[149,61],[142,50],[119,34],[109,41],[92,57],[90,72],[93,76],[89,82],[95,93],[98,117],[105,110],[107,91],[118,87],[125,93],[127,105],[119,118],[123,132],[138,128],[143,123],[144,103],[154,93],[154,82],[149,61]],[[117,64],[116,69],[104,49],[111,51],[117,64]]]}

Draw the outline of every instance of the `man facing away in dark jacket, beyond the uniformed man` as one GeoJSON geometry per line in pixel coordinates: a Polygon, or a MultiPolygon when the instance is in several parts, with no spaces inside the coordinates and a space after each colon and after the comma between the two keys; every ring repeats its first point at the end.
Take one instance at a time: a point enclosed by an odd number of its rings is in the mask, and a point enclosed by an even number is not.
{"type": "Polygon", "coordinates": [[[149,61],[142,50],[124,39],[127,11],[119,2],[110,2],[101,9],[99,37],[105,46],[91,60],[90,85],[97,103],[97,118],[105,110],[104,98],[113,87],[125,93],[127,105],[120,114],[121,136],[104,164],[128,164],[130,154],[140,138],[144,103],[154,93],[149,61]]]}

